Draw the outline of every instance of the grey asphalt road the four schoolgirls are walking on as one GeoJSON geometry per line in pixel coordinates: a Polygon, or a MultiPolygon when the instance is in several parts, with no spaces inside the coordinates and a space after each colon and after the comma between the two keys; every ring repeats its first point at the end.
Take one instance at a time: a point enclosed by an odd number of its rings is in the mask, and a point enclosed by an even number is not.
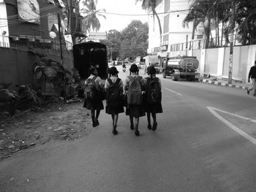
{"type": "Polygon", "coordinates": [[[122,114],[113,136],[102,112],[89,137],[1,162],[0,191],[256,191],[255,97],[170,79],[162,79],[162,92],[157,131],[144,117],[135,137],[122,114]]]}

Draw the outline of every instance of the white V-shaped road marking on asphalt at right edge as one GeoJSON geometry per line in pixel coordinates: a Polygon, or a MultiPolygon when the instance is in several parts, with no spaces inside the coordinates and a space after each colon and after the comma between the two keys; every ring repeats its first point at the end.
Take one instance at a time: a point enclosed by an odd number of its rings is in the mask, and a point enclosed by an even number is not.
{"type": "MultiPolygon", "coordinates": [[[[249,136],[249,134],[246,134],[246,132],[242,131],[240,128],[234,126],[232,123],[230,123],[229,121],[225,120],[225,118],[222,118],[222,116],[220,116],[217,112],[215,112],[215,110],[219,111],[219,112],[225,112],[225,111],[222,111],[222,110],[218,110],[214,107],[207,107],[207,109],[215,116],[217,117],[219,120],[221,120],[223,123],[225,123],[227,126],[229,126],[230,128],[232,128],[234,131],[236,131],[238,134],[240,134],[241,136],[243,136],[244,138],[248,139],[250,142],[252,142],[254,145],[256,145],[256,139],[249,136]]],[[[233,113],[230,113],[230,112],[225,112],[229,115],[233,115],[233,116],[236,116],[238,118],[243,118],[243,119],[246,119],[246,120],[251,120],[252,122],[256,123],[255,120],[252,120],[252,119],[249,119],[249,118],[244,118],[243,116],[240,116],[240,115],[236,115],[236,114],[233,114],[233,113]]]]}

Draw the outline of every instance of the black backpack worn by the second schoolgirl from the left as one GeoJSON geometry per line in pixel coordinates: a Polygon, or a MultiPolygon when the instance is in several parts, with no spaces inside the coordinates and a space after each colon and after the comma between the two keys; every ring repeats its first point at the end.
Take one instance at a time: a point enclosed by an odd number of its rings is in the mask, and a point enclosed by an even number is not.
{"type": "Polygon", "coordinates": [[[108,107],[116,107],[121,104],[121,94],[119,88],[119,82],[121,79],[117,79],[115,83],[112,82],[110,78],[107,79],[109,82],[109,87],[107,89],[107,103],[108,107]]]}

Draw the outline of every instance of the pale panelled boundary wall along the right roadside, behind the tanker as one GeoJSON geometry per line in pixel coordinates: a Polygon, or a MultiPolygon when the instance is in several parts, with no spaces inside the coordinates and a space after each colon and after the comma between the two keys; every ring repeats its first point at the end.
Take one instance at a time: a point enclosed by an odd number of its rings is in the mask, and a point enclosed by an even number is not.
{"type": "MultiPolygon", "coordinates": [[[[218,78],[228,78],[230,47],[221,47],[216,49],[192,50],[188,55],[196,56],[199,61],[200,76],[211,74],[218,78]],[[191,53],[191,54],[190,54],[191,53]]],[[[170,56],[184,55],[184,51],[176,51],[170,56]]],[[[233,50],[233,80],[247,82],[249,69],[256,60],[256,45],[238,46],[233,50]]]]}

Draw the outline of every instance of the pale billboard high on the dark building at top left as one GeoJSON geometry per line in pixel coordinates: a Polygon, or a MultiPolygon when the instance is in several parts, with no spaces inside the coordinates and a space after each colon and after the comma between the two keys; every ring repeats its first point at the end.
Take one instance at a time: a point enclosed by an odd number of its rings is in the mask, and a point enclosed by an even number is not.
{"type": "Polygon", "coordinates": [[[29,23],[40,23],[37,0],[17,0],[19,19],[29,23]]]}

